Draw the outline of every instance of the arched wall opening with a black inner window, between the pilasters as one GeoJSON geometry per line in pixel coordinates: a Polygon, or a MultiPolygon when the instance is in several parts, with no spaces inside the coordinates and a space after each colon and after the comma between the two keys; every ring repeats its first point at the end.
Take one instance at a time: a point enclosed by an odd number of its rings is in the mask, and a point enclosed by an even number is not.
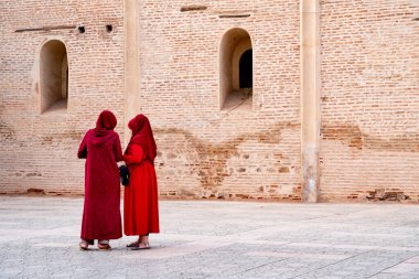
{"type": "Polygon", "coordinates": [[[253,46],[249,33],[232,29],[222,39],[219,49],[219,107],[253,108],[253,46]]]}

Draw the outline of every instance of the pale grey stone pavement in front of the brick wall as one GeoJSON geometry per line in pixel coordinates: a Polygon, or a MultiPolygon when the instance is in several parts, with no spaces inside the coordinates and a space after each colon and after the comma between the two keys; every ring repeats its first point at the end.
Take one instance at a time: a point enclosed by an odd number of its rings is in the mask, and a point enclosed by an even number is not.
{"type": "Polygon", "coordinates": [[[0,196],[0,278],[419,278],[419,205],[161,201],[141,251],[79,250],[82,208],[0,196]]]}

